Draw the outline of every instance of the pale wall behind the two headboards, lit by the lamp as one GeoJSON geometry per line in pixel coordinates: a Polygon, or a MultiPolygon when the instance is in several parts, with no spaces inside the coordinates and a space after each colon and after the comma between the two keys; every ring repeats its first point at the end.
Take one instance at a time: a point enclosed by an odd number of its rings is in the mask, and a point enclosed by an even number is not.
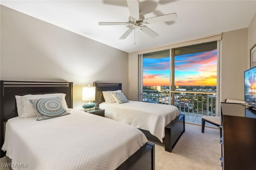
{"type": "Polygon", "coordinates": [[[128,53],[1,6],[1,80],[74,82],[82,108],[82,86],[121,82],[128,94],[128,53]]]}

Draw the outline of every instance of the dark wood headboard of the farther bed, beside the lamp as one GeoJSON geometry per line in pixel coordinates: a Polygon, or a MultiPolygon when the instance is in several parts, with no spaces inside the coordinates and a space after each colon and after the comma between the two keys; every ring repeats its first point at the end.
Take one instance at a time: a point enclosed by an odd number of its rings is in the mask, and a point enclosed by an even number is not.
{"type": "Polygon", "coordinates": [[[94,82],[93,86],[96,87],[96,92],[95,92],[96,107],[98,107],[100,103],[105,102],[102,94],[103,91],[122,90],[122,83],[94,82]]]}

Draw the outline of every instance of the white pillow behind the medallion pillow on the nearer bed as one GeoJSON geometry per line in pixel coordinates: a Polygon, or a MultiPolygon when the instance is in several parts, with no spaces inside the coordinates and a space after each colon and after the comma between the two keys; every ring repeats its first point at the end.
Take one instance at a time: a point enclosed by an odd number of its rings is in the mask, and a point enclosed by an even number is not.
{"type": "MultiPolygon", "coordinates": [[[[22,114],[21,114],[20,118],[36,116],[36,112],[34,111],[34,108],[33,108],[32,104],[29,101],[30,99],[42,99],[42,98],[60,97],[62,99],[64,108],[67,111],[70,111],[70,109],[68,109],[68,105],[66,103],[65,96],[66,96],[66,94],[64,94],[64,93],[35,94],[35,95],[27,94],[25,96],[22,96],[21,97],[21,100],[22,100],[22,114]]],[[[20,110],[20,108],[18,109],[18,107],[17,107],[17,110],[20,110]]]]}

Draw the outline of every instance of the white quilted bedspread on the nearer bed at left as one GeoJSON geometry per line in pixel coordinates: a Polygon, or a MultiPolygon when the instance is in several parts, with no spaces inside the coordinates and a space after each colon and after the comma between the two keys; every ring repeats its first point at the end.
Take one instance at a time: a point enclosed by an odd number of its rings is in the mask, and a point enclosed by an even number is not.
{"type": "Polygon", "coordinates": [[[116,169],[147,139],[138,129],[72,109],[70,115],[36,121],[14,117],[6,123],[2,147],[26,170],[116,169]]]}

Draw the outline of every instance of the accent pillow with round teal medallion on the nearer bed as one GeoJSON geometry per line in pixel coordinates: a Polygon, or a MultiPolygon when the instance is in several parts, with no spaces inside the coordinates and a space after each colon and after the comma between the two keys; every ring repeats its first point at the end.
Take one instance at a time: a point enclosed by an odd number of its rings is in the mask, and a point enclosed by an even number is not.
{"type": "Polygon", "coordinates": [[[70,114],[63,106],[60,97],[30,99],[29,101],[36,112],[37,121],[70,114]]]}

